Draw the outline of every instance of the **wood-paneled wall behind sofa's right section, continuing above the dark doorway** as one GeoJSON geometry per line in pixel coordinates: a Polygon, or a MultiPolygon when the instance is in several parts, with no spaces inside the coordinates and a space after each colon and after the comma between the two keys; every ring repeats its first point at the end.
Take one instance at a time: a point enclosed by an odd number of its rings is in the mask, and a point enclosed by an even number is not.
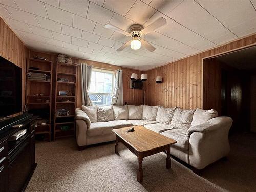
{"type": "MultiPolygon", "coordinates": [[[[163,83],[152,82],[146,91],[148,105],[180,106],[185,109],[202,108],[203,65],[202,59],[256,43],[256,35],[251,35],[226,45],[189,56],[165,66],[146,71],[147,83],[157,75],[163,76],[163,83]]],[[[204,79],[206,82],[207,79],[204,79]]]]}

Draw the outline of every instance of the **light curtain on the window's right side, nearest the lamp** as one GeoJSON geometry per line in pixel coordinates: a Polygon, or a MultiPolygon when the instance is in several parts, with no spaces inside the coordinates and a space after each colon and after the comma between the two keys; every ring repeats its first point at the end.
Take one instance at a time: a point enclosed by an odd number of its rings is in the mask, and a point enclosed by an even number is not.
{"type": "Polygon", "coordinates": [[[116,71],[114,91],[112,94],[112,105],[123,105],[123,75],[122,70],[116,71]]]}

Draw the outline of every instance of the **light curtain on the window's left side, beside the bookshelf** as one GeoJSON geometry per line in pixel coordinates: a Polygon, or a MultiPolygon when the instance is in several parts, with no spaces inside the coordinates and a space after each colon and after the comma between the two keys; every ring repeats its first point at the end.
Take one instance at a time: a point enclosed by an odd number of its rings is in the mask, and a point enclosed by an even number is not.
{"type": "Polygon", "coordinates": [[[91,106],[93,105],[88,91],[90,89],[92,76],[92,66],[81,63],[81,87],[82,87],[82,105],[91,106]]]}

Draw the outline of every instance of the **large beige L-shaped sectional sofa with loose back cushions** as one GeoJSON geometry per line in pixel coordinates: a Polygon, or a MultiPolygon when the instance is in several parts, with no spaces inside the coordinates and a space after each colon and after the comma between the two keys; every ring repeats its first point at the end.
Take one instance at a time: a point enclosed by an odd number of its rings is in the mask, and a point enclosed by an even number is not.
{"type": "Polygon", "coordinates": [[[76,109],[76,140],[79,149],[114,141],[112,129],[142,125],[177,141],[170,153],[185,163],[203,169],[229,153],[230,117],[217,111],[164,108],[163,106],[82,106],[76,109]]]}

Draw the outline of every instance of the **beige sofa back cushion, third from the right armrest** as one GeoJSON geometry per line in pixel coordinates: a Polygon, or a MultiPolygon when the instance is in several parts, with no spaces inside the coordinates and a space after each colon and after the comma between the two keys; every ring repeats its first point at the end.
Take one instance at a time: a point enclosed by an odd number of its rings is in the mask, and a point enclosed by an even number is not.
{"type": "Polygon", "coordinates": [[[160,106],[157,111],[156,122],[170,124],[174,116],[175,108],[164,108],[160,106]]]}

